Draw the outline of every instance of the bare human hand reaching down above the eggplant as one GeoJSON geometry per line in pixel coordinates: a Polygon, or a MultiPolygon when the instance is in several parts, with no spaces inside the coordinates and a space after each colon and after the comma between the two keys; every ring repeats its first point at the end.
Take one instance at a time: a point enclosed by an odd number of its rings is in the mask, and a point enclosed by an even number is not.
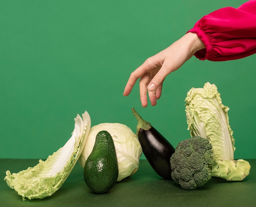
{"type": "Polygon", "coordinates": [[[139,93],[142,107],[147,106],[148,97],[151,105],[155,106],[157,99],[161,96],[166,76],[180,68],[196,51],[204,47],[197,34],[186,33],[168,48],[146,59],[141,66],[134,70],[130,74],[123,95],[128,96],[140,78],[139,93]]]}

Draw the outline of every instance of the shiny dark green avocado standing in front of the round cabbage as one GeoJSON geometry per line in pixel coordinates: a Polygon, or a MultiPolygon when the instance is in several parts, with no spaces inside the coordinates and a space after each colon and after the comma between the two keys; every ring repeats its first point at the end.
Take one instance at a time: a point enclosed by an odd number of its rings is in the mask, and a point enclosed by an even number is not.
{"type": "Polygon", "coordinates": [[[85,183],[95,193],[104,194],[114,187],[118,177],[114,141],[107,131],[97,134],[91,154],[85,162],[85,183]]]}

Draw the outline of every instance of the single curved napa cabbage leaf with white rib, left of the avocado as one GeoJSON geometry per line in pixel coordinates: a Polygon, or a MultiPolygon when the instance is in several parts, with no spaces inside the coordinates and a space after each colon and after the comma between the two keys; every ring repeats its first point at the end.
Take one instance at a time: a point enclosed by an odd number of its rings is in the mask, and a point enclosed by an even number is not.
{"type": "Polygon", "coordinates": [[[74,119],[74,131],[67,143],[45,161],[39,160],[36,166],[18,173],[6,172],[4,180],[22,196],[22,200],[45,198],[61,188],[76,164],[90,131],[88,112],[85,111],[82,117],[77,115],[74,119]]]}

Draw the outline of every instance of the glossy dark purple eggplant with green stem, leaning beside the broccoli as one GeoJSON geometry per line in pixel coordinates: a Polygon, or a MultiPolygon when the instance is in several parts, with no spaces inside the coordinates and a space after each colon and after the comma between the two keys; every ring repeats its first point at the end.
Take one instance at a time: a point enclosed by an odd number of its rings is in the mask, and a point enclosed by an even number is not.
{"type": "Polygon", "coordinates": [[[138,121],[137,136],[146,159],[159,176],[171,179],[170,158],[175,148],[148,121],[142,119],[134,108],[132,113],[138,121]]]}

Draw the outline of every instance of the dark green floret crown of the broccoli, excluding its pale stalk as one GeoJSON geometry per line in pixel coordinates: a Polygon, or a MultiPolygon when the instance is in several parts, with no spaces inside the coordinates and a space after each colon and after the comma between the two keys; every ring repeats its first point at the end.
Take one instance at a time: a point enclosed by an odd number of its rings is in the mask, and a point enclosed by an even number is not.
{"type": "Polygon", "coordinates": [[[213,159],[211,143],[202,137],[181,141],[171,156],[171,177],[182,189],[193,190],[211,179],[213,159]]]}

